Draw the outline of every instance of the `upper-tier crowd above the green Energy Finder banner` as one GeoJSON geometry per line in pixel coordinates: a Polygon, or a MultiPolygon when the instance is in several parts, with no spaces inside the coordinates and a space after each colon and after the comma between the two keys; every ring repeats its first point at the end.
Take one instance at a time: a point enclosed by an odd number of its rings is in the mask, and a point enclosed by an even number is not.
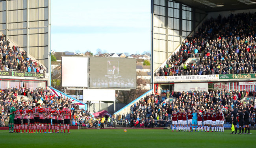
{"type": "Polygon", "coordinates": [[[19,46],[0,36],[0,70],[45,73],[45,67],[37,60],[28,56],[19,46]]]}

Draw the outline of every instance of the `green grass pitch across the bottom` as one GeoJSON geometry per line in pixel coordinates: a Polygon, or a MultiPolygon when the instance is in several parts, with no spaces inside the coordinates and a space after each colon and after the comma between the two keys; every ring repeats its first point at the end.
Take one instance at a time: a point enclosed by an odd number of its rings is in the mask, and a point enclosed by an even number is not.
{"type": "Polygon", "coordinates": [[[197,148],[245,148],[254,147],[256,130],[250,135],[230,135],[211,132],[171,132],[171,130],[122,129],[70,130],[71,134],[8,133],[0,130],[1,148],[101,148],[101,147],[197,147],[197,148]]]}

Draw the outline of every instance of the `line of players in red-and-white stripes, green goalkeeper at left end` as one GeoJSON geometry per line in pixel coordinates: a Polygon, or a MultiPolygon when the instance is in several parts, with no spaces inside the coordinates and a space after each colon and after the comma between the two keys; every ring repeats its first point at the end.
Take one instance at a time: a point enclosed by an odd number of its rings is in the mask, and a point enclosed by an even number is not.
{"type": "Polygon", "coordinates": [[[59,128],[61,128],[61,133],[65,133],[65,128],[67,127],[67,133],[69,132],[69,124],[71,119],[71,112],[69,109],[69,105],[65,105],[65,108],[60,107],[58,109],[57,106],[54,109],[51,109],[51,106],[48,105],[43,106],[38,103],[35,106],[32,106],[32,109],[29,109],[26,106],[23,109],[23,106],[15,106],[15,109],[11,109],[12,113],[15,114],[14,121],[11,121],[10,118],[10,127],[9,132],[20,132],[22,129],[22,133],[24,133],[24,129],[26,133],[59,133],[59,128]],[[51,126],[51,115],[52,115],[52,126],[51,126]],[[23,116],[23,119],[22,119],[23,116]],[[29,117],[28,117],[29,116],[29,117]],[[21,119],[23,121],[23,125],[21,125],[21,119]],[[30,121],[28,126],[28,120],[30,121]],[[14,126],[12,126],[13,124],[14,126]],[[13,127],[13,128],[12,128],[13,127]],[[50,132],[52,129],[52,132],[50,132]]]}

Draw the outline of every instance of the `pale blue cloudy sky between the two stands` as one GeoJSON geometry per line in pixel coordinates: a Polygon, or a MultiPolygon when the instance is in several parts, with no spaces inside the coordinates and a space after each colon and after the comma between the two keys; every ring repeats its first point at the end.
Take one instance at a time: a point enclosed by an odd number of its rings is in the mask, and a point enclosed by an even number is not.
{"type": "Polygon", "coordinates": [[[51,50],[150,51],[150,0],[52,0],[51,50]]]}

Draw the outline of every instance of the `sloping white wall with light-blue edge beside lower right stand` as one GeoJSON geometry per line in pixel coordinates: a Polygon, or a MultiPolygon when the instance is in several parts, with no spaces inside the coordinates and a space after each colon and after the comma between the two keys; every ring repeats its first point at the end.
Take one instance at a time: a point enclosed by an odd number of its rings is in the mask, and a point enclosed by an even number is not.
{"type": "Polygon", "coordinates": [[[128,105],[124,106],[123,108],[121,108],[119,111],[115,112],[114,115],[117,115],[118,114],[125,114],[125,119],[127,120],[130,120],[130,107],[132,105],[134,105],[135,103],[139,102],[140,99],[146,97],[146,96],[149,96],[153,93],[153,89],[151,90],[148,90],[145,94],[139,96],[137,99],[135,99],[134,101],[132,101],[131,103],[129,103],[128,105]]]}

